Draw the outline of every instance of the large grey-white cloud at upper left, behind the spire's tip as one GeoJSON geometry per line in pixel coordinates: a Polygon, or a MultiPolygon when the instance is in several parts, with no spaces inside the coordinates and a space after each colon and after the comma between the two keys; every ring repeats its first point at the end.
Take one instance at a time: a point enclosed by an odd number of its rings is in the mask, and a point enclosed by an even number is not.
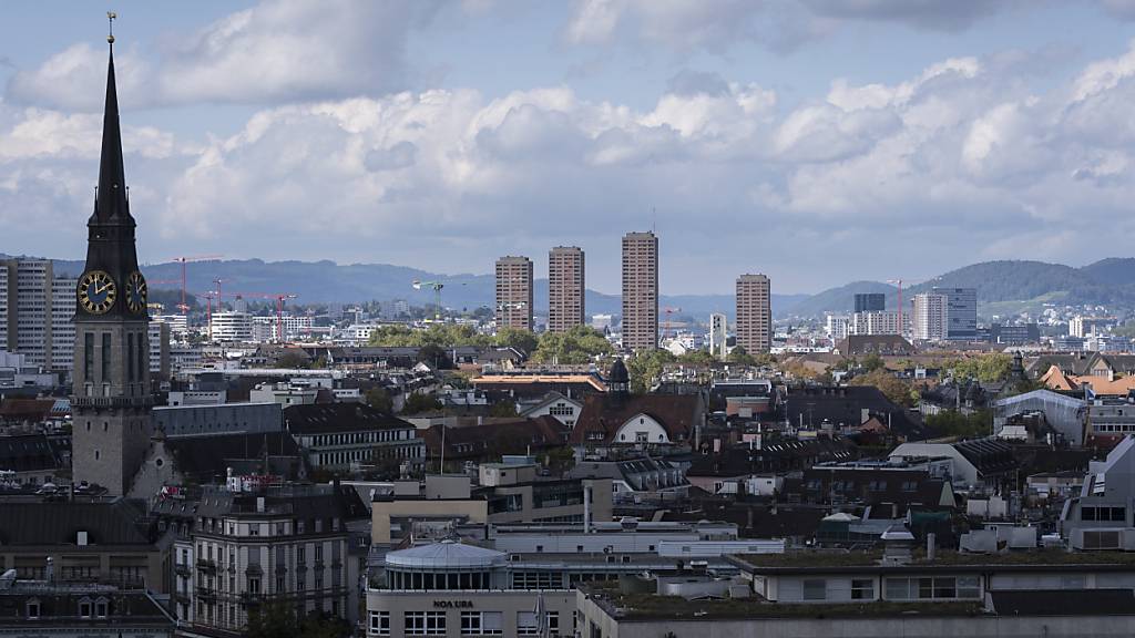
{"type": "MultiPolygon", "coordinates": [[[[409,34],[430,22],[438,0],[262,0],[185,35],[166,37],[155,62],[116,57],[124,99],[140,106],[279,103],[406,89],[409,34]]],[[[469,5],[468,10],[482,10],[469,5]]],[[[119,47],[121,47],[121,42],[119,47]]],[[[18,103],[98,110],[106,51],[75,44],[9,79],[18,103]]]]}

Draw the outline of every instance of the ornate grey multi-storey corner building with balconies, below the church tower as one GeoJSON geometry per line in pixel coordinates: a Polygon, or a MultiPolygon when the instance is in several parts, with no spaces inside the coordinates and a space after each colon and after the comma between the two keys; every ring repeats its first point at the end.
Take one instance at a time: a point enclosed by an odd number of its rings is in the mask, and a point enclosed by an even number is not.
{"type": "Polygon", "coordinates": [[[291,486],[207,489],[174,543],[177,618],[209,636],[241,636],[266,603],[300,615],[358,619],[359,565],[347,521],[365,517],[351,489],[291,486]]]}

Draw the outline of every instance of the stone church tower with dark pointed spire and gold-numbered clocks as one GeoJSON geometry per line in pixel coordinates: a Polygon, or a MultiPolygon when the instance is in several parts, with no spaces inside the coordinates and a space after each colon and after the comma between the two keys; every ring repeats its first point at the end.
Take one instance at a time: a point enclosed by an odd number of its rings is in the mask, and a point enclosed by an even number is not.
{"type": "MultiPolygon", "coordinates": [[[[110,15],[114,19],[114,15],[110,15]]],[[[115,36],[102,119],[102,157],[94,212],[86,223],[86,268],[75,300],[72,396],[74,480],[123,495],[150,443],[150,345],[145,279],[134,247],[134,218],[123,167],[115,36]]]]}

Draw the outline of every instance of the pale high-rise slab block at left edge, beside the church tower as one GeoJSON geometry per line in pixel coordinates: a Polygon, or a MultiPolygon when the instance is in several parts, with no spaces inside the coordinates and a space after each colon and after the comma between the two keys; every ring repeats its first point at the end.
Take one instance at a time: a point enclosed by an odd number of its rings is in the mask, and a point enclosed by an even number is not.
{"type": "Polygon", "coordinates": [[[75,351],[75,287],[47,259],[0,261],[0,350],[27,362],[69,372],[75,351]]]}

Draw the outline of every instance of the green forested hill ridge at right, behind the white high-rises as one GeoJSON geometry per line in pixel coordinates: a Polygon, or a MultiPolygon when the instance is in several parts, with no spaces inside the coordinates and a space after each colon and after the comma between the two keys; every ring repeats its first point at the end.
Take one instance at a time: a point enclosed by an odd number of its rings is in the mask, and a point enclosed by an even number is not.
{"type": "MultiPolygon", "coordinates": [[[[1046,303],[1105,305],[1109,311],[1135,310],[1135,259],[1109,258],[1083,268],[1044,261],[985,261],[903,287],[903,305],[910,297],[934,287],[976,288],[978,313],[1009,316],[1037,312],[1046,303]]],[[[888,295],[886,307],[898,308],[898,288],[880,282],[857,282],[813,295],[782,316],[819,317],[825,312],[850,312],[856,293],[888,295]]]]}

